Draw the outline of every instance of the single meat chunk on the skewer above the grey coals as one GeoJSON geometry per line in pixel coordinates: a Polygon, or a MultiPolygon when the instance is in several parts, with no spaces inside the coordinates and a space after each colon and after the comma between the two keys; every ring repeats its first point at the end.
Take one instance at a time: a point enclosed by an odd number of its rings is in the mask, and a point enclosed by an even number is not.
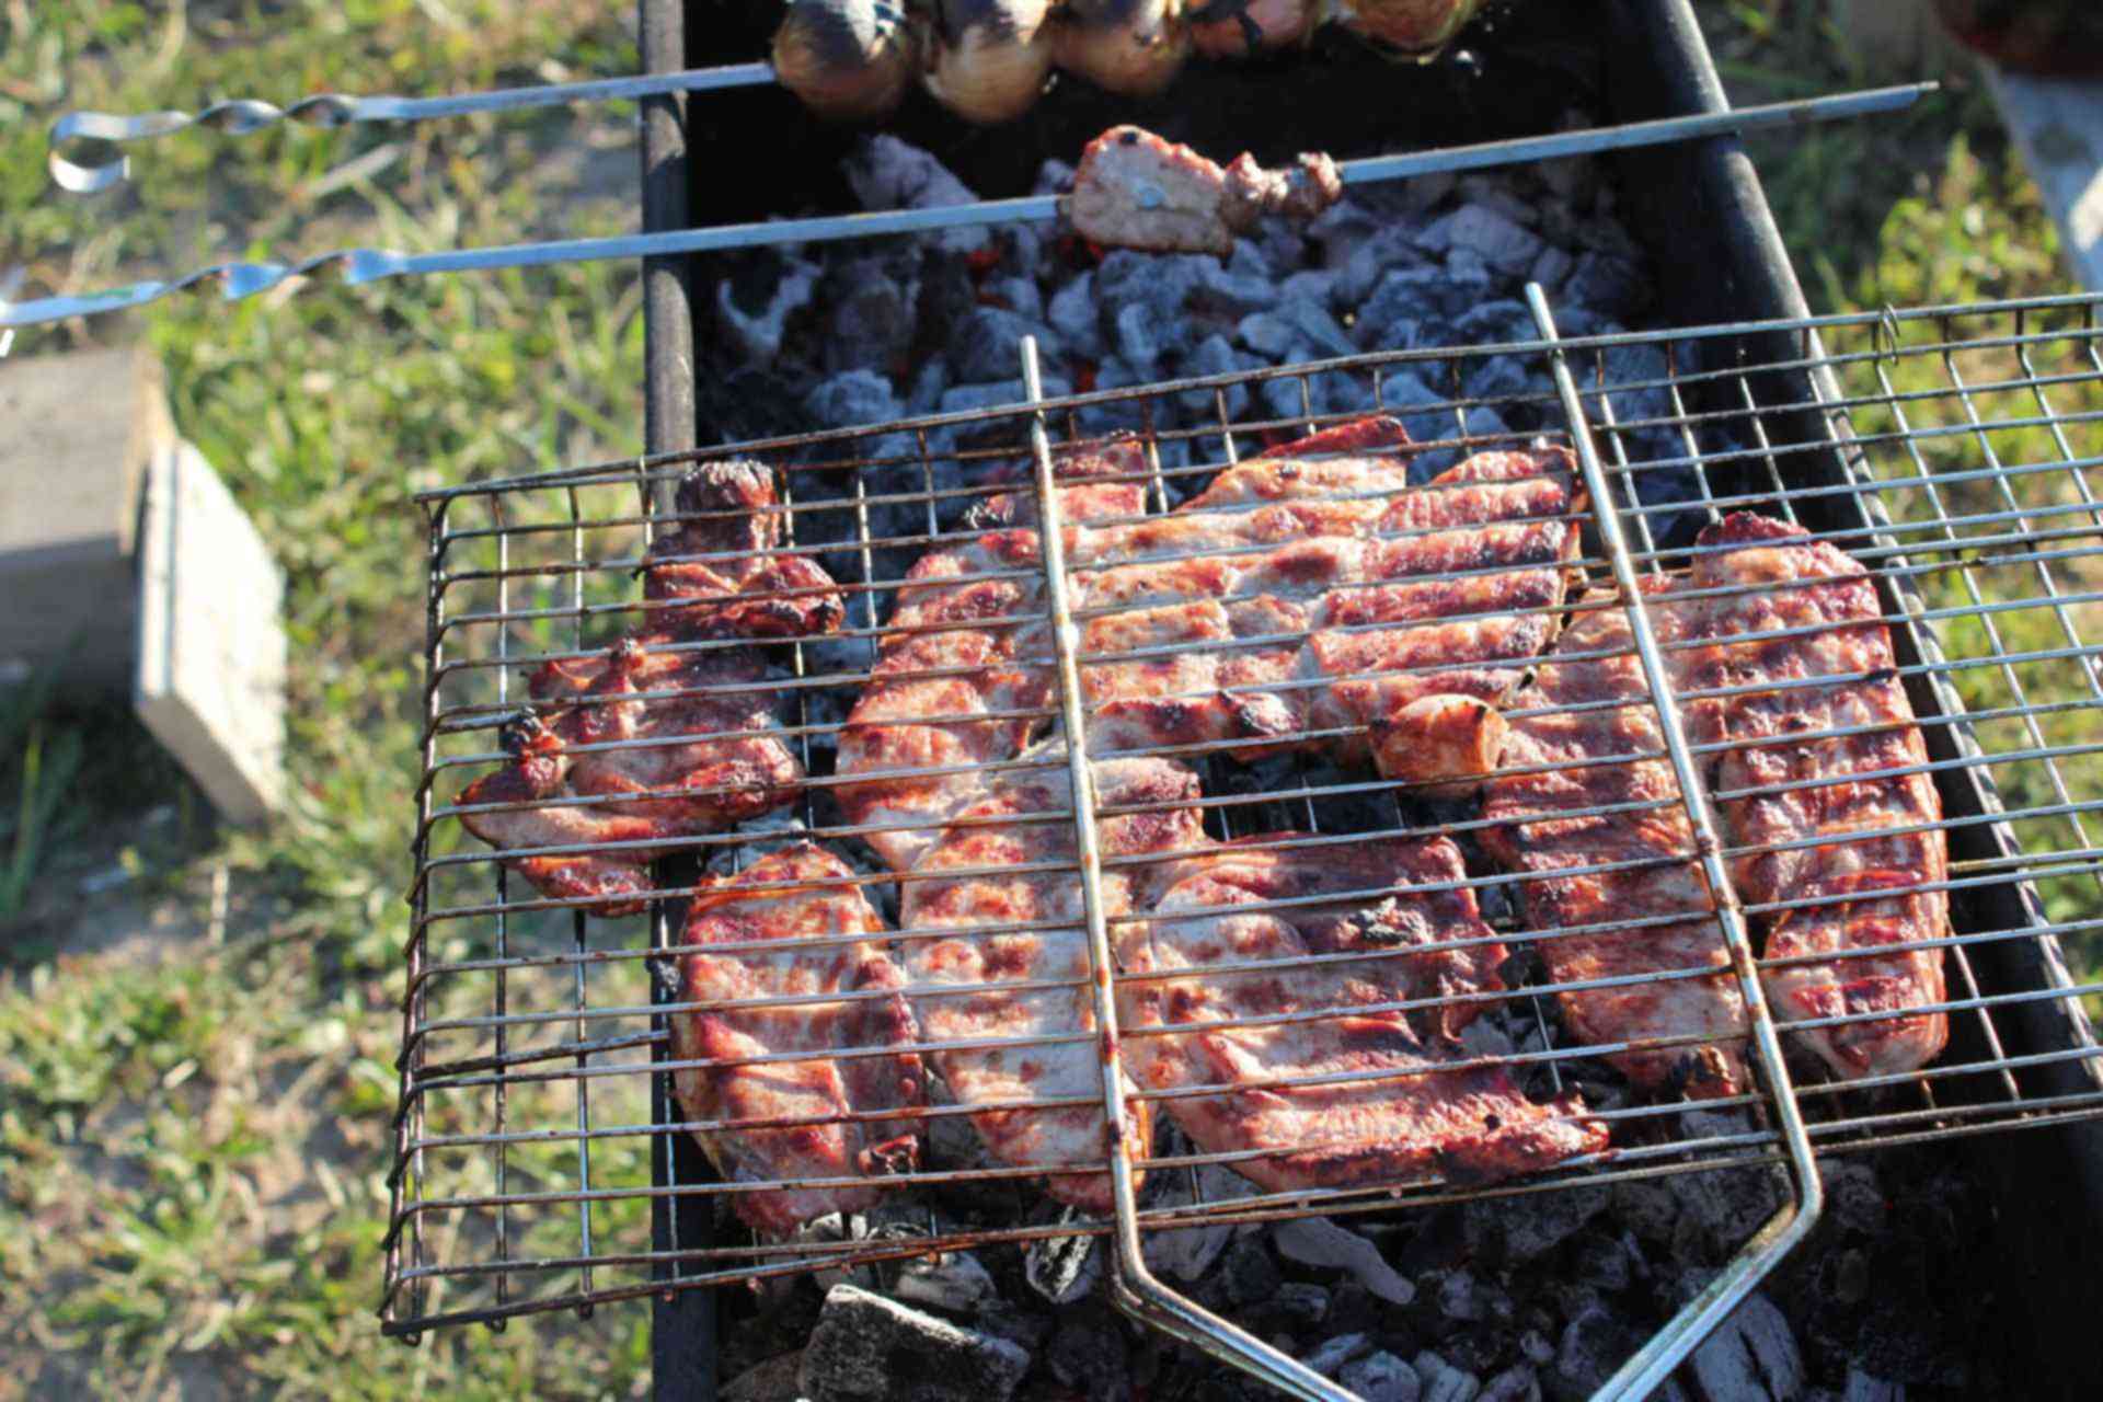
{"type": "Polygon", "coordinates": [[[1138,126],[1087,143],[1066,217],[1087,240],[1146,252],[1234,252],[1234,235],[1264,214],[1312,219],[1344,198],[1335,162],[1306,153],[1291,170],[1264,170],[1243,153],[1220,168],[1186,145],[1138,126]]]}

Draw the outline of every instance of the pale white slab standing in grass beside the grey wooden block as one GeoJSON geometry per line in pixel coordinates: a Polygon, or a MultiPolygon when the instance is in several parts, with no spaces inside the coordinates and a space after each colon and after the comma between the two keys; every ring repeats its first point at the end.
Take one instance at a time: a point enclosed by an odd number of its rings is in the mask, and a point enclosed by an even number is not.
{"type": "Polygon", "coordinates": [[[263,538],[212,465],[189,444],[154,454],[132,704],[229,822],[284,801],[280,595],[263,538]]]}

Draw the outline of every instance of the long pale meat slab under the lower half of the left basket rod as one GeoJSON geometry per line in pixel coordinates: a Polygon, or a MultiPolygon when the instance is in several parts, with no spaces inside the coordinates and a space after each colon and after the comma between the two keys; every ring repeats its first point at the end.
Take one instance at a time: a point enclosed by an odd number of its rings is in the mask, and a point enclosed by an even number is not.
{"type": "MultiPolygon", "coordinates": [[[[1089,977],[1073,788],[1062,742],[1030,750],[1037,769],[999,774],[978,803],[957,811],[942,839],[904,883],[902,927],[957,931],[911,940],[906,971],[913,1003],[932,1045],[974,1038],[1075,1036],[1056,1045],[930,1051],[930,1059],[963,1106],[1001,1106],[1043,1097],[1096,1104],[1062,1108],[988,1108],[972,1116],[999,1162],[1024,1169],[1102,1164],[1102,1049],[1096,1040],[1096,994],[1089,977]],[[1043,870],[1052,866],[1052,870],[1043,870]],[[978,927],[1033,925],[1005,933],[978,927]],[[1012,984],[1060,982],[1060,988],[1012,984]],[[957,992],[932,992],[955,988],[957,992]]],[[[1171,805],[1161,811],[1104,818],[1106,862],[1148,853],[1190,853],[1207,839],[1197,809],[1197,776],[1182,765],[1121,759],[1094,765],[1098,803],[1171,805]]],[[[1102,898],[1108,916],[1144,900],[1142,874],[1106,866],[1102,898]]],[[[1127,1150],[1138,1160],[1152,1143],[1148,1104],[1127,1101],[1127,1150]]],[[[1138,1173],[1134,1173],[1138,1185],[1138,1173]]],[[[1106,1173],[1052,1173],[1060,1202],[1089,1213],[1110,1211],[1106,1173]]]]}

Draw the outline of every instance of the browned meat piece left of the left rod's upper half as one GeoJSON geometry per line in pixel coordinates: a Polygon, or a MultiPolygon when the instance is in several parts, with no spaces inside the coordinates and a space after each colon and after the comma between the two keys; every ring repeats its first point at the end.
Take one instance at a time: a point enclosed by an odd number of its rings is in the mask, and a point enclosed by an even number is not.
{"type": "MultiPolygon", "coordinates": [[[[1068,523],[1134,517],[1146,507],[1131,444],[1064,454],[1060,511],[1068,523]]],[[[942,544],[898,589],[875,675],[839,736],[837,790],[854,824],[911,822],[864,841],[892,870],[911,870],[961,807],[986,797],[993,771],[1047,725],[1056,700],[1037,507],[1028,492],[974,511],[984,534],[942,544]],[[887,771],[944,769],[887,776],[887,771]]]]}

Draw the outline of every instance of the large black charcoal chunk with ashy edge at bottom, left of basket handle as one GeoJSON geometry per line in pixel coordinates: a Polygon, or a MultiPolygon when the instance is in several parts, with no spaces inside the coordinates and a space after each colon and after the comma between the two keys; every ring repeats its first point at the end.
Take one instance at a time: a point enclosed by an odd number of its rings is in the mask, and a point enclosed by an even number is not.
{"type": "Polygon", "coordinates": [[[1007,1402],[1030,1354],[852,1284],[824,1297],[803,1347],[812,1402],[1007,1402]]]}

